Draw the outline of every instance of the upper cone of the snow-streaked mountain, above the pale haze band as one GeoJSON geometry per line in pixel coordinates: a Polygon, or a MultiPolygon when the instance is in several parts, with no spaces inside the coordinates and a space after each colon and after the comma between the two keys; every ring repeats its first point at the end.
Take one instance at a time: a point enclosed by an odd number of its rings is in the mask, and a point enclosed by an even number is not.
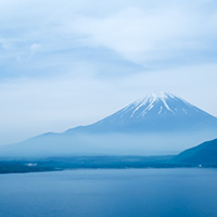
{"type": "Polygon", "coordinates": [[[208,127],[217,127],[216,117],[171,93],[159,92],[135,101],[113,115],[82,129],[98,132],[145,132],[208,127]]]}

